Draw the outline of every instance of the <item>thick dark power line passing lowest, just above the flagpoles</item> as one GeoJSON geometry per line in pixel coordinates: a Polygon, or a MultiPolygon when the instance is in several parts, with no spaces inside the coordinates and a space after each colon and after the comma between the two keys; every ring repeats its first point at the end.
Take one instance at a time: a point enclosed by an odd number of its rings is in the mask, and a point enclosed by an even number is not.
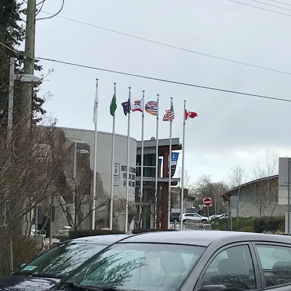
{"type": "Polygon", "coordinates": [[[58,61],[58,60],[53,60],[53,59],[48,59],[48,58],[39,57],[37,59],[49,61],[49,62],[60,63],[60,64],[65,64],[65,65],[73,65],[73,66],[78,66],[78,67],[83,67],[83,68],[89,68],[89,69],[94,69],[94,70],[99,70],[99,71],[111,72],[111,73],[115,73],[115,74],[127,75],[127,76],[132,76],[132,77],[137,77],[137,78],[143,78],[143,79],[148,79],[148,80],[162,81],[162,82],[167,82],[167,83],[173,83],[173,84],[184,85],[184,86],[191,86],[191,87],[202,88],[202,89],[209,89],[209,90],[214,90],[214,91],[221,91],[221,92],[234,93],[234,94],[240,94],[240,95],[246,95],[246,96],[252,96],[252,97],[260,97],[260,98],[266,98],[266,99],[291,102],[291,100],[289,100],[289,99],[269,97],[269,96],[263,96],[263,95],[257,95],[257,94],[249,94],[249,93],[243,93],[243,92],[226,90],[226,89],[219,89],[219,88],[214,88],[214,87],[200,86],[200,85],[178,82],[178,81],[170,81],[170,80],[153,78],[153,77],[148,77],[148,76],[143,76],[143,75],[125,73],[125,72],[121,72],[121,71],[114,71],[114,70],[109,70],[109,69],[97,68],[97,67],[88,66],[88,65],[80,65],[80,64],[76,64],[76,63],[58,61]]]}

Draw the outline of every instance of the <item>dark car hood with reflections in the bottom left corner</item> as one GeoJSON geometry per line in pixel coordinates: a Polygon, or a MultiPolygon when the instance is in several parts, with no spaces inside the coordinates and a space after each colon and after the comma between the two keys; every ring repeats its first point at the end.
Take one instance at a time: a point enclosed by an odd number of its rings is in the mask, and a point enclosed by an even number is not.
{"type": "Polygon", "coordinates": [[[51,288],[61,279],[22,275],[8,275],[0,278],[0,291],[42,291],[51,288]]]}

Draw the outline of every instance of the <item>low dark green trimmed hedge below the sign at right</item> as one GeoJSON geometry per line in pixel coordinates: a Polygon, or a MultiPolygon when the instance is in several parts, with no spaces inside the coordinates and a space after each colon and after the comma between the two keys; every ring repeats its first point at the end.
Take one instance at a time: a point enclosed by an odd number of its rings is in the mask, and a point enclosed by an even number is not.
{"type": "Polygon", "coordinates": [[[254,220],[254,232],[284,230],[284,216],[263,216],[254,220]]]}

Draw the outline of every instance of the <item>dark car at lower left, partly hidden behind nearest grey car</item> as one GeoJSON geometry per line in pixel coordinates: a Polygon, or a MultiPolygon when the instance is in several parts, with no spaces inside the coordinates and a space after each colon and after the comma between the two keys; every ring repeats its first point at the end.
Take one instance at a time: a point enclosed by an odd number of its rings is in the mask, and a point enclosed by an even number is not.
{"type": "Polygon", "coordinates": [[[12,275],[1,277],[0,291],[46,290],[86,259],[125,237],[128,235],[97,235],[60,243],[25,264],[12,275]]]}

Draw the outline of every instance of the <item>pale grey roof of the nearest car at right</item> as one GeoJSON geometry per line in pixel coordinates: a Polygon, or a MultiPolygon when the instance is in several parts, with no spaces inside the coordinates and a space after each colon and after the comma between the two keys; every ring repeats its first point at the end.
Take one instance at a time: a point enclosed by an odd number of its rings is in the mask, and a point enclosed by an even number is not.
{"type": "Polygon", "coordinates": [[[184,231],[156,231],[141,233],[128,237],[118,243],[126,242],[149,242],[149,243],[177,243],[208,246],[212,242],[220,241],[222,244],[242,241],[266,241],[290,243],[291,238],[283,235],[220,231],[220,230],[184,230],[184,231]]]}

